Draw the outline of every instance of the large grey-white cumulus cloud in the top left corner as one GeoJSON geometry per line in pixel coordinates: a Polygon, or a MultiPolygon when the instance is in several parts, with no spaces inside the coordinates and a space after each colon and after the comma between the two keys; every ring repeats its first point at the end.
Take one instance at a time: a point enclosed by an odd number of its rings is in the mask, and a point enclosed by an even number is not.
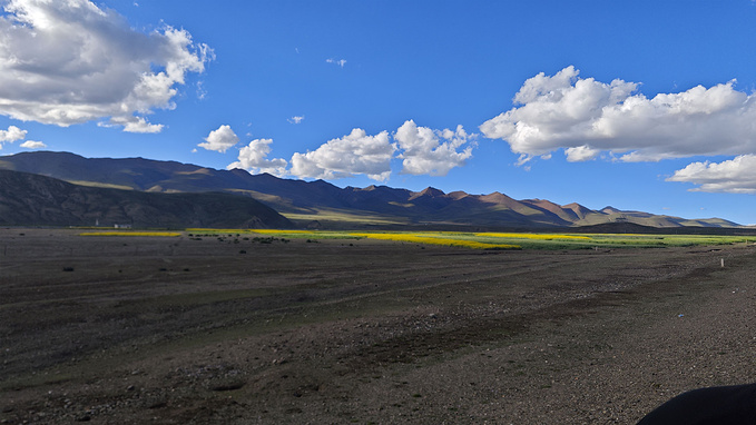
{"type": "Polygon", "coordinates": [[[88,0],[8,0],[0,16],[0,115],[70,126],[106,119],[125,131],[158,132],[146,116],[173,109],[188,72],[213,50],[186,30],[131,29],[88,0]]]}

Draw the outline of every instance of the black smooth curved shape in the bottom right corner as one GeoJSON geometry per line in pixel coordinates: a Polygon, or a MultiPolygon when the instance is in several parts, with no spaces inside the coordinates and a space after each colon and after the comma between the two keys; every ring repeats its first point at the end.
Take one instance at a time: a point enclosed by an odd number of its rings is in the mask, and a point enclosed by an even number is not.
{"type": "Polygon", "coordinates": [[[754,425],[756,384],[698,388],[646,415],[638,425],[754,425]]]}

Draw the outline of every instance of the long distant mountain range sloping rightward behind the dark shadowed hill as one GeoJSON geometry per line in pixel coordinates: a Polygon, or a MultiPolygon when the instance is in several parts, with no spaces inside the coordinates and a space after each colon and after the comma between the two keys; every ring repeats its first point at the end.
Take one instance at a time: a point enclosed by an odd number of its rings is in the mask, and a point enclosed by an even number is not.
{"type": "MultiPolygon", "coordinates": [[[[171,205],[158,200],[164,199],[159,197],[160,195],[164,197],[180,195],[184,198],[176,196],[165,199],[171,199],[171,202],[180,199],[189,204],[192,197],[200,194],[204,194],[202,196],[210,196],[207,192],[216,192],[212,196],[234,195],[230,198],[223,198],[224,201],[234,198],[254,199],[281,212],[296,226],[312,228],[453,229],[472,227],[495,229],[553,228],[612,223],[666,228],[739,226],[719,218],[685,219],[642,211],[618,210],[612,207],[593,210],[579,204],[557,205],[543,199],[516,200],[501,192],[470,195],[464,191],[452,191],[445,194],[431,187],[422,191],[386,186],[340,188],[323,180],[283,179],[267,174],[251,175],[240,169],[217,170],[144,158],[84,158],[69,152],[33,151],[0,157],[0,170],[21,171],[65,180],[72,185],[66,186],[67,190],[76,191],[87,188],[88,190],[108,190],[108,194],[119,192],[120,196],[126,197],[128,196],[124,194],[129,192],[132,197],[154,196],[154,198],[138,199],[146,206],[151,205],[158,209],[171,205]]],[[[12,197],[12,192],[17,192],[18,197],[22,195],[22,190],[32,190],[12,188],[10,180],[2,180],[0,185],[2,185],[0,201],[9,196],[12,197]]],[[[208,205],[207,199],[200,204],[208,205]]],[[[187,208],[185,206],[183,209],[187,208]]],[[[223,211],[216,212],[224,214],[223,211]]],[[[0,210],[0,218],[3,214],[7,212],[0,210]]],[[[175,218],[177,221],[181,219],[188,218],[175,218]]],[[[197,220],[199,220],[198,216],[195,217],[195,221],[197,220]]],[[[216,220],[220,226],[223,220],[220,218],[216,220]]],[[[234,220],[238,221],[239,217],[234,220]]],[[[223,227],[234,220],[226,220],[223,227]]],[[[0,223],[4,221],[7,220],[0,220],[0,223]]],[[[261,226],[263,221],[253,220],[248,225],[261,226]]],[[[205,218],[203,223],[209,221],[205,218]]],[[[281,224],[286,225],[284,221],[281,224]]],[[[272,224],[269,226],[276,227],[272,224]]],[[[206,225],[205,227],[213,226],[206,225]]]]}

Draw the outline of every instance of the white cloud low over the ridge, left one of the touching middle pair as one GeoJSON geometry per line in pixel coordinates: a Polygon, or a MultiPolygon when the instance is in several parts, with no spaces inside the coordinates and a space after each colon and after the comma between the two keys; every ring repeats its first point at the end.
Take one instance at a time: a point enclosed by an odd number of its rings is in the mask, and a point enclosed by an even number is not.
{"type": "Polygon", "coordinates": [[[365,130],[355,128],[314,151],[294,154],[289,172],[300,178],[322,179],[366,175],[373,180],[385,181],[391,175],[391,158],[395,150],[387,131],[367,136],[365,130]]]}

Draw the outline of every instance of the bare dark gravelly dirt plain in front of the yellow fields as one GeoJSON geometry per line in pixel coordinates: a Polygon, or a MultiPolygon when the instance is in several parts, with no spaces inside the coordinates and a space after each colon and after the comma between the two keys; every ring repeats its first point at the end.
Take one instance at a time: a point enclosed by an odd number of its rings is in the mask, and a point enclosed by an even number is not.
{"type": "Polygon", "coordinates": [[[0,229],[0,423],[634,424],[756,382],[754,270],[746,245],[0,229]]]}

